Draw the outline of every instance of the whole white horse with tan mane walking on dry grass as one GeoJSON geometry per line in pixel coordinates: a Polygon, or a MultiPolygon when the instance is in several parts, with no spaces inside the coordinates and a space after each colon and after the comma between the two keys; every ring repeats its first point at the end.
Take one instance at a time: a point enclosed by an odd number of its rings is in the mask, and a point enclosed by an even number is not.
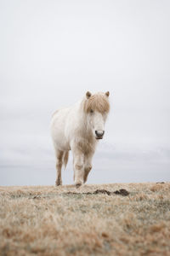
{"type": "Polygon", "coordinates": [[[96,144],[105,133],[105,120],[110,110],[109,94],[107,91],[92,95],[88,91],[82,101],[53,114],[50,127],[56,156],[56,186],[62,185],[61,168],[67,164],[69,150],[73,154],[76,186],[87,181],[96,144]]]}

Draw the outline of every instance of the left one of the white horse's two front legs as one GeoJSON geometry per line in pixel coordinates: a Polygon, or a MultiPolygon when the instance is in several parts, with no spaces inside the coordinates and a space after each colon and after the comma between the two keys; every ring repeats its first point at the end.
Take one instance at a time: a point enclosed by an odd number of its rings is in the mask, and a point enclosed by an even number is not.
{"type": "Polygon", "coordinates": [[[72,150],[73,166],[74,166],[74,180],[77,187],[83,183],[84,174],[84,154],[77,149],[72,150]]]}

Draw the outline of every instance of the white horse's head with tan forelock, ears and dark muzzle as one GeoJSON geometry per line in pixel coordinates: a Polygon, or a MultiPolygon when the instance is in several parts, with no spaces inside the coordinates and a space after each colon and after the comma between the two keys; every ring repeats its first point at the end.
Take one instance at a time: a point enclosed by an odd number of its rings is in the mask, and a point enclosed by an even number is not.
{"type": "Polygon", "coordinates": [[[110,110],[109,91],[92,95],[86,93],[84,111],[87,113],[88,128],[92,129],[96,139],[102,139],[105,133],[105,120],[110,110]]]}

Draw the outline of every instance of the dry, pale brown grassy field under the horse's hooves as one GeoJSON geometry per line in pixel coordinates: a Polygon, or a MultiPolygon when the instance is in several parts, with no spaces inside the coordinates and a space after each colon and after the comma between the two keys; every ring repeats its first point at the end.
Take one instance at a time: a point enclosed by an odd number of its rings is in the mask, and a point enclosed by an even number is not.
{"type": "Polygon", "coordinates": [[[170,255],[170,183],[0,187],[0,252],[170,255]]]}

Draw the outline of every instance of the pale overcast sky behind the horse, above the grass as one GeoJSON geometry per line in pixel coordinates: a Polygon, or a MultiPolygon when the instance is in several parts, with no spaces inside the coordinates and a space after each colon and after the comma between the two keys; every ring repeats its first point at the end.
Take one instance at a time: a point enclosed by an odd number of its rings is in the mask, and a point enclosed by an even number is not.
{"type": "Polygon", "coordinates": [[[0,32],[0,185],[54,184],[51,115],[87,90],[111,93],[88,183],[170,181],[169,1],[2,0],[0,32]]]}

